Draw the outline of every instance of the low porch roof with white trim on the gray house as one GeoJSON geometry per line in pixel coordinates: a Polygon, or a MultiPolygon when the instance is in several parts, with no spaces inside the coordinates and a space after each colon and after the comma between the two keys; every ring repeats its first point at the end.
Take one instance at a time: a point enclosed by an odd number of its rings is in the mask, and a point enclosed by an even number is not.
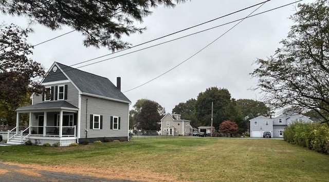
{"type": "Polygon", "coordinates": [[[30,111],[40,111],[40,110],[73,110],[78,111],[79,108],[66,102],[65,100],[55,101],[55,102],[43,102],[39,104],[34,104],[30,106],[24,106],[16,109],[16,112],[30,112],[30,111]]]}

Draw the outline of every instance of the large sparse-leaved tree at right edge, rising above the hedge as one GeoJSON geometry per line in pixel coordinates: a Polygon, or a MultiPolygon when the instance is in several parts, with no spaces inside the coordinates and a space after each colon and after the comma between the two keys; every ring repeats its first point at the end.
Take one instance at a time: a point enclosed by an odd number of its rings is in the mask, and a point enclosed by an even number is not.
{"type": "Polygon", "coordinates": [[[286,39],[274,55],[257,59],[251,75],[266,103],[314,110],[329,118],[329,2],[299,4],[286,39]]]}

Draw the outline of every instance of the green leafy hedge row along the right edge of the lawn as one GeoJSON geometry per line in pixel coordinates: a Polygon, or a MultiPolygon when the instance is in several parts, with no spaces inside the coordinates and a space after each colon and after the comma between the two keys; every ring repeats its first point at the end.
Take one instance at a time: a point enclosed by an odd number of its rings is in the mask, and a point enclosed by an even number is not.
{"type": "Polygon", "coordinates": [[[308,149],[329,154],[329,128],[318,123],[293,123],[284,132],[283,139],[308,149]]]}

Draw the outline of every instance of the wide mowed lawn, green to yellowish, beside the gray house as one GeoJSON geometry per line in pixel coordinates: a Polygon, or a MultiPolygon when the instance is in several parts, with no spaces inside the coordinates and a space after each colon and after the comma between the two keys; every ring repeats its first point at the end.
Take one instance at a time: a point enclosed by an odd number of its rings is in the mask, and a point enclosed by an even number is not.
{"type": "Polygon", "coordinates": [[[76,147],[0,147],[0,161],[147,171],[178,181],[329,181],[329,156],[283,140],[133,138],[76,147]]]}

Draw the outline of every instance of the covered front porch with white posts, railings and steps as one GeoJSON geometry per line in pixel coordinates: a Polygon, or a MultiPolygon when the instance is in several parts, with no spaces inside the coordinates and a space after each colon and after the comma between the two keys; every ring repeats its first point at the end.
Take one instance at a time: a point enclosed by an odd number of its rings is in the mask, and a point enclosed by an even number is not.
{"type": "Polygon", "coordinates": [[[68,146],[77,143],[79,109],[66,101],[44,102],[16,109],[16,127],[8,130],[9,144],[68,146]],[[20,114],[28,113],[27,127],[20,126],[20,114]]]}

